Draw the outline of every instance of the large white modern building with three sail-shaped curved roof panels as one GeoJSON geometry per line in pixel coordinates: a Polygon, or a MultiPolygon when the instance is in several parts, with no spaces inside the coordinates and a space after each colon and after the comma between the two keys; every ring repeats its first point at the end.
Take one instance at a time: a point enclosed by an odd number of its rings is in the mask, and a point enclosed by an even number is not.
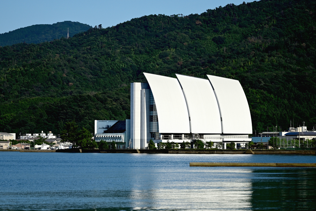
{"type": "Polygon", "coordinates": [[[148,83],[131,83],[130,140],[127,148],[146,149],[155,143],[196,140],[232,141],[242,148],[251,141],[252,122],[246,95],[237,80],[176,74],[170,78],[144,73],[148,83]]]}

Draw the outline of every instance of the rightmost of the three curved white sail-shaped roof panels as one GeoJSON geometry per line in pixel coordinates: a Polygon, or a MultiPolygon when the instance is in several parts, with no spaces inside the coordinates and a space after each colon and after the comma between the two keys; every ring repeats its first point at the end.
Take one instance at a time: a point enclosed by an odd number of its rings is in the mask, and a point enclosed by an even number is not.
{"type": "Polygon", "coordinates": [[[207,75],[214,88],[223,124],[223,133],[251,134],[252,123],[246,95],[239,81],[207,75]]]}

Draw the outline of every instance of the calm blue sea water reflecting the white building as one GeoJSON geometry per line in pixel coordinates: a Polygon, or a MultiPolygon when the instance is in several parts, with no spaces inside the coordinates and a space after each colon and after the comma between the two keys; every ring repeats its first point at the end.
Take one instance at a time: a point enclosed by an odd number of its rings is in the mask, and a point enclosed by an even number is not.
{"type": "Polygon", "coordinates": [[[300,155],[0,152],[0,210],[315,210],[316,163],[300,155]]]}

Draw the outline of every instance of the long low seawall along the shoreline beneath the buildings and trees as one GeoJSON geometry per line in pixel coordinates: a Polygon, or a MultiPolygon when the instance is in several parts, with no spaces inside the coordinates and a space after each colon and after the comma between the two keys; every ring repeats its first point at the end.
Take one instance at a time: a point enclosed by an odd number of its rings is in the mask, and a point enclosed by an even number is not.
{"type": "Polygon", "coordinates": [[[315,155],[316,150],[206,150],[206,149],[59,149],[59,150],[3,150],[0,152],[71,152],[71,153],[149,153],[149,154],[292,154],[292,155],[315,155]]]}

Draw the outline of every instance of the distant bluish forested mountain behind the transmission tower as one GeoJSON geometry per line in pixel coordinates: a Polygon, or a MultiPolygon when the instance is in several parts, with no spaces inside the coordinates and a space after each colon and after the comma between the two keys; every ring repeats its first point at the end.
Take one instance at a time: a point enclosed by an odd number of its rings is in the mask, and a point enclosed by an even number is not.
{"type": "Polygon", "coordinates": [[[41,43],[49,42],[61,37],[67,37],[69,28],[69,36],[87,31],[91,26],[79,22],[57,22],[54,24],[37,24],[24,28],[15,29],[3,34],[0,34],[0,46],[8,46],[16,43],[41,43]]]}

